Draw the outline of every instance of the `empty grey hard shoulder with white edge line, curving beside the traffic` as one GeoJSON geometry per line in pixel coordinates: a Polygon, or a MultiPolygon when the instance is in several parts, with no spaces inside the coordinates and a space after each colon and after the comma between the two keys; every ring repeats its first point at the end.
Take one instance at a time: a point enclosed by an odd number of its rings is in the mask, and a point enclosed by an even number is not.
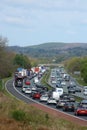
{"type": "MultiPolygon", "coordinates": [[[[32,81],[31,81],[32,82],[32,81]]],[[[66,113],[67,115],[70,115],[70,116],[73,116],[75,118],[78,118],[78,119],[81,119],[82,121],[87,121],[87,116],[74,116],[74,113],[73,112],[63,112],[62,109],[57,109],[55,105],[47,105],[46,103],[40,103],[39,100],[34,100],[32,99],[29,94],[25,94],[21,91],[21,88],[18,88],[18,87],[15,87],[14,84],[13,84],[13,79],[12,80],[9,80],[6,85],[6,90],[12,94],[13,96],[15,96],[17,99],[19,100],[22,100],[28,104],[31,104],[31,103],[37,103],[37,104],[41,104],[41,105],[44,105],[45,107],[47,108],[52,108],[54,109],[55,111],[58,111],[58,112],[62,112],[62,113],[66,113]]]]}

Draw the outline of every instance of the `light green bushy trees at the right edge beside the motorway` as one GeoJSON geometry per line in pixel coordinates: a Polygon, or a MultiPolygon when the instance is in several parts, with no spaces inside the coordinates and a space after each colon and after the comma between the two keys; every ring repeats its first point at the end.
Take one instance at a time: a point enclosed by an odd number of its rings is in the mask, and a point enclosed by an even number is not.
{"type": "Polygon", "coordinates": [[[80,71],[82,79],[87,83],[87,57],[74,57],[65,62],[65,67],[69,73],[74,74],[75,71],[80,71]]]}

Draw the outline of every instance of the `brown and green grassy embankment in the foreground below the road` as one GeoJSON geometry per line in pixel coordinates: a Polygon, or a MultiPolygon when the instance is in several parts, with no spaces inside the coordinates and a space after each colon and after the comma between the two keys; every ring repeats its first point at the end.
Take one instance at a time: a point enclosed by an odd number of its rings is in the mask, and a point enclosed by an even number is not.
{"type": "MultiPolygon", "coordinates": [[[[5,85],[6,79],[3,82],[5,85]]],[[[0,130],[87,130],[8,96],[0,84],[0,130]]]]}

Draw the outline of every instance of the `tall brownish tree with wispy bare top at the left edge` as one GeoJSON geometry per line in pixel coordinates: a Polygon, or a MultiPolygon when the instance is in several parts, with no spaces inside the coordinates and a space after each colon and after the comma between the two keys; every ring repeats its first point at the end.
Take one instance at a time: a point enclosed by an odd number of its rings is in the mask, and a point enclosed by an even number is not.
{"type": "Polygon", "coordinates": [[[9,77],[14,69],[12,63],[13,54],[6,51],[7,38],[0,36],[0,78],[9,77]]]}

